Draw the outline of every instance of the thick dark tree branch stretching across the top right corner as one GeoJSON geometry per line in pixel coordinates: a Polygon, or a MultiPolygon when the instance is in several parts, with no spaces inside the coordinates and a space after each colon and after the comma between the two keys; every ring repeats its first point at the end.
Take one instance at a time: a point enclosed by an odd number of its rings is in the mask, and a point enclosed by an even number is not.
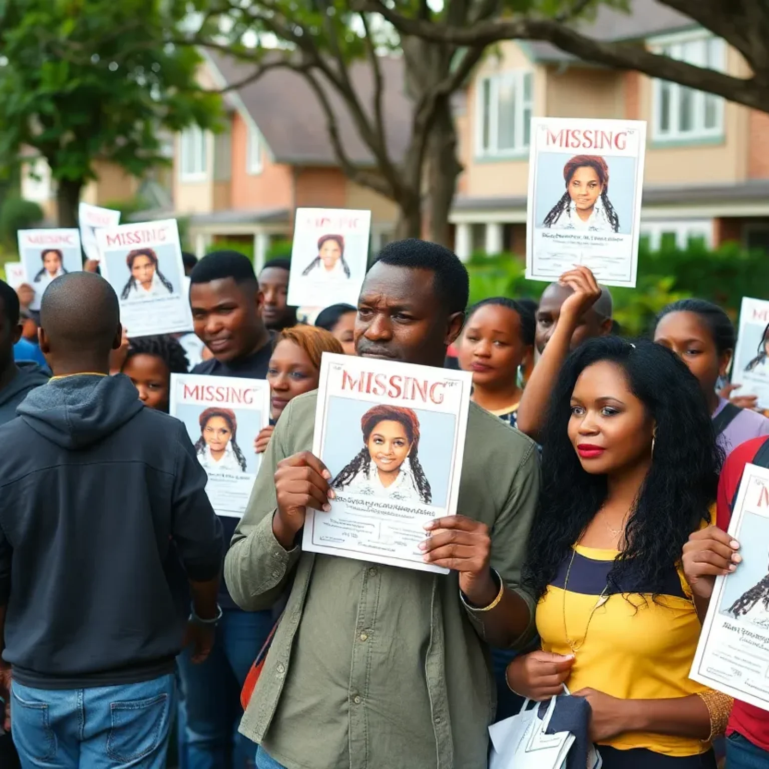
{"type": "Polygon", "coordinates": [[[363,12],[381,14],[401,35],[422,38],[425,42],[482,47],[511,39],[546,41],[586,62],[636,70],[769,112],[769,46],[766,44],[769,3],[766,0],[657,0],[737,49],[752,70],[745,78],[678,62],[647,50],[639,41],[609,42],[592,38],[581,32],[576,21],[584,11],[594,8],[591,0],[569,0],[566,8],[563,0],[550,0],[551,15],[543,13],[542,8],[534,12],[535,8],[521,8],[516,3],[495,18],[479,19],[471,25],[455,24],[447,12],[435,20],[414,18],[385,0],[352,2],[363,12]],[[554,10],[558,6],[560,11],[554,10]]]}

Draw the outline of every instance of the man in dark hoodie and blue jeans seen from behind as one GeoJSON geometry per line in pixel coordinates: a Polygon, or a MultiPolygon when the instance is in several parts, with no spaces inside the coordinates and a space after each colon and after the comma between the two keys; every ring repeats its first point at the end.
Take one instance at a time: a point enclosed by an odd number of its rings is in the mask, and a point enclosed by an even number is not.
{"type": "Polygon", "coordinates": [[[14,741],[25,766],[161,769],[185,631],[203,661],[221,615],[221,525],[184,425],[108,376],[122,334],[108,283],[63,275],[40,317],[54,377],[0,428],[14,741]]]}

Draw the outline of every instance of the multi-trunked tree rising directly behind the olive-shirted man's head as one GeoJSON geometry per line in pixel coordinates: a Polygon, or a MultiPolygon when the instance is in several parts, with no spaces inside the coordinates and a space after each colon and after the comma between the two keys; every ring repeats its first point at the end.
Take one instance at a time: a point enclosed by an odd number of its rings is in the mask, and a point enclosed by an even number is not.
{"type": "MultiPolygon", "coordinates": [[[[431,238],[450,240],[448,214],[461,172],[451,97],[466,82],[485,45],[468,48],[398,34],[378,14],[351,10],[347,0],[198,0],[197,6],[198,31],[176,42],[208,46],[252,62],[253,79],[278,67],[298,72],[323,109],[342,171],[398,206],[398,235],[419,237],[427,200],[431,238]],[[403,56],[405,87],[413,103],[411,138],[402,158],[388,146],[383,107],[381,56],[394,50],[403,56]],[[369,68],[371,93],[356,90],[354,66],[369,68]],[[355,163],[345,151],[331,94],[349,112],[371,151],[373,168],[355,163]]],[[[433,13],[427,0],[410,7],[404,4],[403,11],[414,18],[431,18],[433,13]]],[[[488,18],[493,10],[490,0],[449,0],[447,14],[452,23],[462,25],[488,18]]]]}

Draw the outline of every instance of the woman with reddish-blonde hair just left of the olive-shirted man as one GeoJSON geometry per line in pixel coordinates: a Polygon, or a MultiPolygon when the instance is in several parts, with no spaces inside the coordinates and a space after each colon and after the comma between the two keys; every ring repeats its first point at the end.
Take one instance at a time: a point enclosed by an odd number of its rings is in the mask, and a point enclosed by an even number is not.
{"type": "Polygon", "coordinates": [[[267,450],[272,431],[283,410],[297,395],[318,389],[321,356],[324,352],[341,355],[341,342],[330,331],[315,326],[285,328],[278,335],[267,367],[270,384],[270,425],[257,436],[257,454],[267,450]]]}

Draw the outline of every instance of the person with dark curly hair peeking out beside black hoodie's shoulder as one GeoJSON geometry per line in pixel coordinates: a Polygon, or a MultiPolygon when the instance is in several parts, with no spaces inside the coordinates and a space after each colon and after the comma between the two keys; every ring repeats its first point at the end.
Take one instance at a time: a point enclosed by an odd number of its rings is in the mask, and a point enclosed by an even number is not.
{"type": "Polygon", "coordinates": [[[122,373],[134,383],[139,400],[166,413],[171,398],[171,374],[186,374],[188,369],[184,348],[168,335],[131,339],[122,365],[122,373]]]}

